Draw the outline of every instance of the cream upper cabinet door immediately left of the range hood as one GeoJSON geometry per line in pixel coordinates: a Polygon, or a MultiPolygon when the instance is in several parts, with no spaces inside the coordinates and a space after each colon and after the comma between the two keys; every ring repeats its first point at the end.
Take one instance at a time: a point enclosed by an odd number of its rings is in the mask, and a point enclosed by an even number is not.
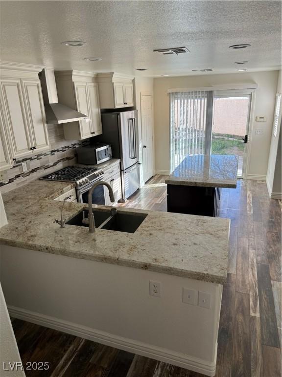
{"type": "Polygon", "coordinates": [[[26,116],[36,152],[49,149],[45,109],[39,80],[22,80],[26,116]]]}

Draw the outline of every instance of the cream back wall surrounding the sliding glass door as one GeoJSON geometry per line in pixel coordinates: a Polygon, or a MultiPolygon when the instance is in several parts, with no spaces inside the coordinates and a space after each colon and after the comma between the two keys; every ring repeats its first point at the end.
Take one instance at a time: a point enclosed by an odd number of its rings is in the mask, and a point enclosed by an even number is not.
{"type": "Polygon", "coordinates": [[[257,83],[255,116],[266,115],[267,122],[254,121],[248,178],[265,178],[271,139],[278,71],[246,72],[226,75],[201,75],[154,79],[155,165],[156,171],[169,171],[169,94],[168,88],[203,87],[221,84],[257,83]],[[255,135],[262,128],[263,135],[255,135]]]}

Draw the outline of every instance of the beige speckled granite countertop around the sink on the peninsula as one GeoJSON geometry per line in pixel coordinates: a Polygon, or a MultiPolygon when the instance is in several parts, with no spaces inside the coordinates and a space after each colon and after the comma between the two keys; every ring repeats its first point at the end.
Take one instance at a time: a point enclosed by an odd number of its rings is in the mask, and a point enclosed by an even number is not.
{"type": "MultiPolygon", "coordinates": [[[[52,199],[73,186],[36,180],[4,193],[9,223],[0,228],[0,243],[212,283],[226,281],[229,219],[118,208],[148,215],[135,233],[89,233],[87,227],[74,225],[61,229],[53,220],[60,218],[62,202],[52,199]]],[[[64,217],[68,220],[85,207],[66,202],[64,217]]]]}

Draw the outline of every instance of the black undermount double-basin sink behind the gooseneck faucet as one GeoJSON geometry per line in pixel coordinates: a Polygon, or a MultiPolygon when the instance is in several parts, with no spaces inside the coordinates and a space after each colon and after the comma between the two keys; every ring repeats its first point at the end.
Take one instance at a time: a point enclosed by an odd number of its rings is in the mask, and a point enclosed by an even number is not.
{"type": "MultiPolygon", "coordinates": [[[[122,211],[115,211],[115,213],[113,214],[110,210],[101,211],[97,209],[93,210],[93,214],[96,228],[127,233],[134,233],[147,216],[147,214],[129,214],[122,211]]],[[[75,215],[69,221],[67,221],[66,225],[88,227],[88,224],[85,224],[83,222],[83,218],[87,217],[88,210],[82,210],[81,212],[79,212],[79,214],[75,215]]]]}

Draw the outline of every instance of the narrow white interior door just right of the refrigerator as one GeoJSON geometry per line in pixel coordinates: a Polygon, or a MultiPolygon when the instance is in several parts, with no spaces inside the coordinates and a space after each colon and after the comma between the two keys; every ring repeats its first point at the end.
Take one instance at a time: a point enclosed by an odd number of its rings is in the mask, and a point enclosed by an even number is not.
{"type": "Polygon", "coordinates": [[[153,152],[153,96],[141,93],[141,128],[143,180],[148,181],[154,175],[153,152]]]}

